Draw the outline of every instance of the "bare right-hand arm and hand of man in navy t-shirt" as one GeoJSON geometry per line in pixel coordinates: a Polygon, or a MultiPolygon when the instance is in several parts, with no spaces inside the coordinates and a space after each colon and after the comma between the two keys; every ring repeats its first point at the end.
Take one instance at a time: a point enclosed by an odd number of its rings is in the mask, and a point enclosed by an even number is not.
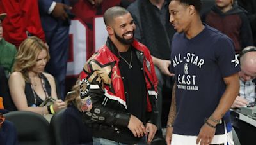
{"type": "Polygon", "coordinates": [[[234,100],[236,99],[237,94],[239,93],[239,76],[238,73],[232,74],[231,76],[227,76],[224,78],[226,84],[226,90],[223,93],[218,106],[216,107],[214,113],[209,116],[209,119],[202,126],[198,138],[196,140],[196,144],[209,144],[212,141],[212,138],[215,134],[215,126],[218,124],[217,122],[221,120],[221,118],[225,115],[225,113],[230,109],[234,100]],[[210,126],[213,127],[210,127],[210,126]]]}

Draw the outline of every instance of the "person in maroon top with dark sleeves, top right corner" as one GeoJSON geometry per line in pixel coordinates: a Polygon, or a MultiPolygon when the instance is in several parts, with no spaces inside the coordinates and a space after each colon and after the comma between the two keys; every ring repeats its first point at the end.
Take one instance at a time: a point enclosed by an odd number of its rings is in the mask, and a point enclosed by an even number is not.
{"type": "Polygon", "coordinates": [[[216,1],[216,5],[203,15],[202,20],[231,38],[236,54],[239,54],[246,46],[253,45],[252,30],[245,13],[236,0],[222,0],[216,1]]]}

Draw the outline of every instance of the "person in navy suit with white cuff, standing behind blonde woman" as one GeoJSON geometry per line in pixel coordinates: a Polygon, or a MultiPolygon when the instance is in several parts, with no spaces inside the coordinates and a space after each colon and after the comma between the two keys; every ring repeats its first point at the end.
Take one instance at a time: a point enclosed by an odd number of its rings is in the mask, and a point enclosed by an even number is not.
{"type": "Polygon", "coordinates": [[[71,9],[68,4],[68,0],[38,0],[42,27],[51,56],[45,70],[57,79],[62,99],[64,99],[65,93],[68,60],[68,31],[70,25],[68,13],[71,9]]]}

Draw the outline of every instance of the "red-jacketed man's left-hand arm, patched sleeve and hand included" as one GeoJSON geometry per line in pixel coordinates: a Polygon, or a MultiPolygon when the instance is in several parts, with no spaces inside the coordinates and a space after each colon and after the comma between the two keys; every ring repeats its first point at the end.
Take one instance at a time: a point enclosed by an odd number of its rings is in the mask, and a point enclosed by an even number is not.
{"type": "MultiPolygon", "coordinates": [[[[120,109],[124,108],[121,108],[121,106],[117,107],[115,103],[116,100],[106,99],[104,85],[108,83],[106,80],[108,80],[109,72],[106,72],[106,69],[102,69],[98,65],[100,63],[96,60],[92,60],[95,56],[96,55],[93,55],[86,62],[84,70],[81,73],[81,97],[88,97],[92,101],[91,109],[87,111],[84,110],[83,121],[86,123],[97,122],[109,126],[127,127],[134,134],[134,137],[143,136],[146,133],[143,123],[136,118],[136,116],[120,111],[120,109]],[[114,106],[116,107],[113,108],[114,106]]],[[[111,68],[108,70],[111,71],[111,68]]]]}

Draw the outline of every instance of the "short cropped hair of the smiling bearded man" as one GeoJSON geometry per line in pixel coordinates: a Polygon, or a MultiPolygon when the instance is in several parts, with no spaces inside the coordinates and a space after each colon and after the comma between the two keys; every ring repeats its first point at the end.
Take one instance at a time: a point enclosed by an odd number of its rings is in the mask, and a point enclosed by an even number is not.
{"type": "Polygon", "coordinates": [[[106,10],[106,12],[103,15],[103,19],[105,22],[105,25],[109,25],[110,22],[113,21],[115,17],[122,16],[129,13],[125,8],[120,7],[120,6],[113,6],[106,10]]]}

